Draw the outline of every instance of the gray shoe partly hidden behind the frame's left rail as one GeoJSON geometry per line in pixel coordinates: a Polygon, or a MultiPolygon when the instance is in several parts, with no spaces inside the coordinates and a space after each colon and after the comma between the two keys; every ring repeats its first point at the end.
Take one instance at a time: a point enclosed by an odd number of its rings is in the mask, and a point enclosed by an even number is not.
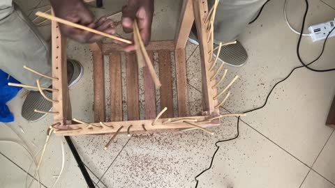
{"type": "MultiPolygon", "coordinates": [[[[68,87],[70,87],[77,83],[77,81],[79,81],[79,79],[82,77],[84,73],[84,68],[78,61],[75,60],[68,59],[67,63],[68,87]]],[[[51,92],[43,91],[43,93],[47,97],[52,98],[51,92]]],[[[40,111],[51,111],[52,102],[45,100],[45,98],[40,95],[39,91],[30,91],[22,105],[22,117],[31,122],[35,122],[37,120],[40,120],[41,118],[44,118],[47,115],[47,113],[35,112],[35,109],[40,111]]]]}

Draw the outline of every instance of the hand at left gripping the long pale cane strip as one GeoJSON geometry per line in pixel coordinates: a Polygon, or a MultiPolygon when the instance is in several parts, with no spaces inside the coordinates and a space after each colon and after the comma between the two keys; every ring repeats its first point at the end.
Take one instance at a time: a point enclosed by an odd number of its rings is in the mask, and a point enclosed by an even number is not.
{"type": "MultiPolygon", "coordinates": [[[[101,17],[94,22],[94,17],[91,12],[84,6],[81,0],[50,0],[54,15],[61,19],[66,19],[83,26],[88,26],[92,29],[102,31],[104,33],[114,34],[115,29],[112,28],[112,20],[101,17]]],[[[103,36],[83,31],[82,29],[74,28],[65,24],[59,24],[61,33],[82,43],[96,42],[104,38],[103,36]]]]}

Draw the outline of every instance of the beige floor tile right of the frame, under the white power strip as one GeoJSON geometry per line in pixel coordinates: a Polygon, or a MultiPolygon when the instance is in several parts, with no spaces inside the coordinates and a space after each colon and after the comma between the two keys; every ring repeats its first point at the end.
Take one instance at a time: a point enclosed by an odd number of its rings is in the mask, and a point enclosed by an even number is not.
{"type": "MultiPolygon", "coordinates": [[[[228,111],[260,107],[272,86],[286,77],[292,68],[301,65],[296,55],[298,36],[285,24],[283,3],[270,1],[258,21],[248,26],[239,38],[248,52],[248,61],[241,68],[226,65],[226,82],[218,87],[221,91],[235,75],[240,76],[230,88],[232,95],[224,105],[228,111]]],[[[288,17],[295,28],[299,28],[301,23],[304,10],[304,6],[299,6],[301,3],[304,1],[289,1],[288,4],[288,17]]],[[[325,22],[334,17],[334,10],[320,1],[311,1],[310,9],[306,24],[325,22]]],[[[325,53],[313,65],[314,68],[334,67],[334,45],[332,39],[327,42],[325,53]]],[[[304,61],[318,56],[321,47],[322,42],[313,43],[310,38],[303,38],[300,52],[304,61]]],[[[325,118],[334,97],[334,79],[332,72],[296,70],[276,87],[264,109],[249,113],[242,119],[311,166],[332,131],[325,127],[325,118]]],[[[222,99],[223,96],[219,98],[222,99]]]]}

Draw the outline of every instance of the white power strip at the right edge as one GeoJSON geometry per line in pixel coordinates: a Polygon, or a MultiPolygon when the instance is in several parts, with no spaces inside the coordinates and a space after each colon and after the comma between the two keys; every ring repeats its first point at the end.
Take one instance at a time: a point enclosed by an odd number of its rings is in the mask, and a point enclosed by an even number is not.
{"type": "MultiPolygon", "coordinates": [[[[308,31],[309,35],[312,38],[312,41],[315,42],[318,40],[325,40],[325,38],[327,37],[329,32],[332,31],[334,26],[334,20],[322,24],[315,24],[313,26],[309,26],[308,31]]],[[[332,31],[328,38],[332,38],[333,36],[335,36],[335,31],[332,31]]]]}

